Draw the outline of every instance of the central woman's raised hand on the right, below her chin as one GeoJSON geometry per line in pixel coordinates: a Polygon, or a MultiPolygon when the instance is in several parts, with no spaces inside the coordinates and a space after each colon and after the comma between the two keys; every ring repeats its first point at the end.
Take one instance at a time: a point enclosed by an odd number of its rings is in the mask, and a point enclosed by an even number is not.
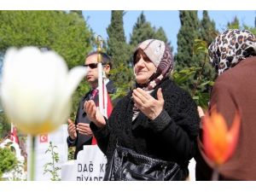
{"type": "Polygon", "coordinates": [[[161,88],[157,90],[157,99],[140,88],[133,90],[132,96],[137,108],[151,120],[155,119],[164,108],[165,100],[161,88]]]}

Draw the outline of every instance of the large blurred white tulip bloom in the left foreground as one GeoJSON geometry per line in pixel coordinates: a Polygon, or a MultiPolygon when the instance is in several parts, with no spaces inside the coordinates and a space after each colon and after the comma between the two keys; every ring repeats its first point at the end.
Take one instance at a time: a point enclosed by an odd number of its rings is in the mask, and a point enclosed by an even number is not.
{"type": "Polygon", "coordinates": [[[67,121],[71,96],[86,69],[74,67],[54,51],[8,49],[3,60],[2,102],[9,120],[33,136],[67,121]]]}

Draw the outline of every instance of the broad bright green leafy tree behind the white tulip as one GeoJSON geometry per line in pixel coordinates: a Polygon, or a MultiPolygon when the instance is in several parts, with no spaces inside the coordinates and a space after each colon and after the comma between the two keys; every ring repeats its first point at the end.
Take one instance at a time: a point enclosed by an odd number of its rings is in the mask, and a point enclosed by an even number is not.
{"type": "Polygon", "coordinates": [[[84,18],[73,12],[0,11],[0,18],[0,51],[12,46],[48,47],[74,67],[92,49],[84,18]]]}

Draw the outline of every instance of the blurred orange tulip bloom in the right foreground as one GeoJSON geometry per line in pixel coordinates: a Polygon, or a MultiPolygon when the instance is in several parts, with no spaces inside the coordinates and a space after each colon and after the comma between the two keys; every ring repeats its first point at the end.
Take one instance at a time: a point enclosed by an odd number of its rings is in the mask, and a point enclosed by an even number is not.
{"type": "Polygon", "coordinates": [[[207,114],[203,125],[203,144],[207,157],[217,166],[224,164],[234,153],[240,130],[241,118],[236,112],[230,129],[224,117],[212,111],[207,114]]]}

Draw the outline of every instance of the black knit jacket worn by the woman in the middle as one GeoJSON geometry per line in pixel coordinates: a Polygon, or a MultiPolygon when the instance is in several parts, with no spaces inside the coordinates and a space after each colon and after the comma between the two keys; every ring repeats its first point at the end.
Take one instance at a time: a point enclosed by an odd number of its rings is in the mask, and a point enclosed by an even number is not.
{"type": "Polygon", "coordinates": [[[99,129],[92,122],[90,127],[108,162],[118,141],[119,145],[137,153],[177,162],[185,178],[189,175],[189,160],[196,152],[200,122],[197,107],[191,96],[171,79],[156,87],[151,94],[154,98],[158,88],[162,88],[165,104],[156,119],[150,120],[139,113],[132,122],[134,102],[130,92],[117,103],[104,128],[99,129]]]}

